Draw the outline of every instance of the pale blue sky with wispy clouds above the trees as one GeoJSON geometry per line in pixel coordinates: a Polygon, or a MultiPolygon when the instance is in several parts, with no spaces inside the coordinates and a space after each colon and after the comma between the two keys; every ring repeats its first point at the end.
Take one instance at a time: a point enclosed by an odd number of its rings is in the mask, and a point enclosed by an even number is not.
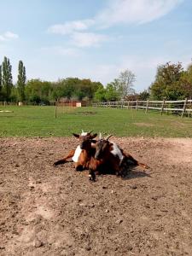
{"type": "Polygon", "coordinates": [[[0,0],[0,63],[14,82],[68,77],[106,85],[129,69],[137,92],[167,61],[192,61],[191,0],[0,0]]]}

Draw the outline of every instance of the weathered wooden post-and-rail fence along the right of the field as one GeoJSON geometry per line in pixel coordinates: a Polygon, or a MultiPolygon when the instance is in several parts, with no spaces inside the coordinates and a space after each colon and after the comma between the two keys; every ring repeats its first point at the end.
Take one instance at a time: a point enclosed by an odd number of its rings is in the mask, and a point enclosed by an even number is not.
{"type": "Polygon", "coordinates": [[[148,110],[160,111],[163,113],[177,113],[183,116],[191,117],[192,100],[187,98],[183,101],[135,101],[135,102],[97,102],[93,103],[94,107],[102,108],[127,108],[127,109],[143,109],[145,113],[148,110]]]}

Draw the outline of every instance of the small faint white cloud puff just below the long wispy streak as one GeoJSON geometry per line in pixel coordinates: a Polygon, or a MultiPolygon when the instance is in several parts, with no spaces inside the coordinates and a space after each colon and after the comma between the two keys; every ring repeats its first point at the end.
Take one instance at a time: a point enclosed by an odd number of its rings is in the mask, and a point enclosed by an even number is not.
{"type": "Polygon", "coordinates": [[[102,42],[107,41],[108,37],[102,34],[90,32],[75,32],[72,34],[72,44],[78,47],[99,46],[102,42]]]}

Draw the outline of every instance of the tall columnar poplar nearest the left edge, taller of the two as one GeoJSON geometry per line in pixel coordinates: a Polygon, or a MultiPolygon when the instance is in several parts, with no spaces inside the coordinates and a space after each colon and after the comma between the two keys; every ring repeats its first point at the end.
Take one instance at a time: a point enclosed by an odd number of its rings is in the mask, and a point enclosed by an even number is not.
{"type": "Polygon", "coordinates": [[[11,65],[9,58],[4,57],[4,61],[2,63],[2,85],[3,85],[3,90],[4,90],[4,95],[5,95],[5,100],[9,102],[10,94],[11,94],[11,88],[13,86],[12,83],[12,74],[11,74],[11,65]]]}

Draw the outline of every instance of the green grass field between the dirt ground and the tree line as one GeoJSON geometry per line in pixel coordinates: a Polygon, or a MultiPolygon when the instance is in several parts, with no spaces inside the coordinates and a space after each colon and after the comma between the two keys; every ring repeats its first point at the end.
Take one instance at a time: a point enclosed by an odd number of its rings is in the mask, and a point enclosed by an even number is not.
{"type": "Polygon", "coordinates": [[[192,119],[116,108],[0,107],[0,137],[68,137],[94,130],[117,137],[192,137],[192,119]]]}

